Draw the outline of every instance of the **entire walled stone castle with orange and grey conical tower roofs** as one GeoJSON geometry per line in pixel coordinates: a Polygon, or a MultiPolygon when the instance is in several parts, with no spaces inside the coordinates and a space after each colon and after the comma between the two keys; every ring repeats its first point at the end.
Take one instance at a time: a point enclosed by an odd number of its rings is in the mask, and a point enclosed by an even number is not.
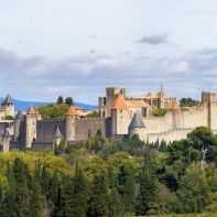
{"type": "Polygon", "coordinates": [[[106,138],[129,139],[138,134],[141,140],[171,142],[186,138],[196,127],[206,126],[217,132],[216,94],[202,93],[202,101],[188,110],[181,110],[176,98],[166,97],[163,87],[156,95],[129,97],[127,89],[107,88],[99,98],[99,118],[85,118],[84,110],[70,106],[64,120],[42,120],[37,109],[26,113],[14,111],[10,96],[0,107],[0,144],[3,152],[33,148],[53,149],[54,141],[68,145],[95,134],[101,129],[106,138]],[[165,108],[163,117],[154,117],[153,109],[165,108]],[[13,117],[13,119],[11,118],[13,117]]]}

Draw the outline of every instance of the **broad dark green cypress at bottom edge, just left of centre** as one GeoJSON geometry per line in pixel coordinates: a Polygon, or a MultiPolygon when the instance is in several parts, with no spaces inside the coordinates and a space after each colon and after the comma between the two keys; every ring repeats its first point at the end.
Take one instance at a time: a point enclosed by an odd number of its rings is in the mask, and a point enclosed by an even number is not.
{"type": "Polygon", "coordinates": [[[104,174],[96,175],[88,202],[88,217],[101,217],[108,214],[108,188],[104,174]]]}

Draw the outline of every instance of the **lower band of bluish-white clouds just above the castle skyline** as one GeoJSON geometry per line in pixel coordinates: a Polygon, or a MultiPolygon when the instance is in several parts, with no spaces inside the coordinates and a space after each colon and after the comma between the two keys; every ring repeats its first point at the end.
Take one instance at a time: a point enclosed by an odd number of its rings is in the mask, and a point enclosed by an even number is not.
{"type": "Polygon", "coordinates": [[[216,91],[217,51],[191,51],[180,57],[89,54],[61,59],[19,57],[0,50],[1,95],[31,100],[55,100],[58,95],[97,104],[107,86],[129,88],[131,95],[156,91],[164,84],[169,95],[199,98],[216,91]]]}

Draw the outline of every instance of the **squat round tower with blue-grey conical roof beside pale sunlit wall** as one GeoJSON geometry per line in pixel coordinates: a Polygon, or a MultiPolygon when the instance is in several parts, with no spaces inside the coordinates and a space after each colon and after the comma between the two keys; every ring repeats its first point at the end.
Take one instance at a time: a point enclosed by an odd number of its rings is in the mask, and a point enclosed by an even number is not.
{"type": "Polygon", "coordinates": [[[139,113],[135,113],[129,126],[129,138],[131,139],[133,134],[138,134],[141,140],[144,140],[144,123],[139,113]]]}

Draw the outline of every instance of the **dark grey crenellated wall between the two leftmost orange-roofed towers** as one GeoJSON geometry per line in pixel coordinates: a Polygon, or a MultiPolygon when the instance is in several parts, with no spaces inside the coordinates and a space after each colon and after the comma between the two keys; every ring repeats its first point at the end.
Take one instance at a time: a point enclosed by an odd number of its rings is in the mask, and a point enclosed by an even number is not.
{"type": "Polygon", "coordinates": [[[52,120],[52,121],[37,121],[36,122],[36,141],[52,141],[56,128],[59,128],[63,137],[65,138],[65,120],[52,120]]]}

